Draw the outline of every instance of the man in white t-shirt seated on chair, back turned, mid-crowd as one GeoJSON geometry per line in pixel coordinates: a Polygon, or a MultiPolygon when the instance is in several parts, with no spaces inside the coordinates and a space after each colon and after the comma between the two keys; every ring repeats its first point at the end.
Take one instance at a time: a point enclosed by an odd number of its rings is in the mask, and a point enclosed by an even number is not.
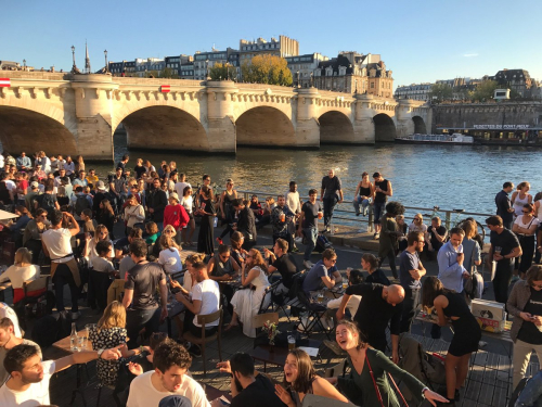
{"type": "MultiPolygon", "coordinates": [[[[178,302],[184,304],[183,332],[191,332],[195,336],[202,336],[202,325],[197,323],[198,315],[216,313],[220,306],[220,288],[218,282],[211,280],[207,274],[205,263],[196,263],[192,266],[193,277],[197,281],[192,288],[192,300],[186,297],[182,291],[176,294],[178,302]]],[[[214,334],[218,329],[220,319],[205,326],[206,335],[214,334]]],[[[202,351],[197,345],[192,345],[189,349],[194,356],[201,356],[202,351]]]]}

